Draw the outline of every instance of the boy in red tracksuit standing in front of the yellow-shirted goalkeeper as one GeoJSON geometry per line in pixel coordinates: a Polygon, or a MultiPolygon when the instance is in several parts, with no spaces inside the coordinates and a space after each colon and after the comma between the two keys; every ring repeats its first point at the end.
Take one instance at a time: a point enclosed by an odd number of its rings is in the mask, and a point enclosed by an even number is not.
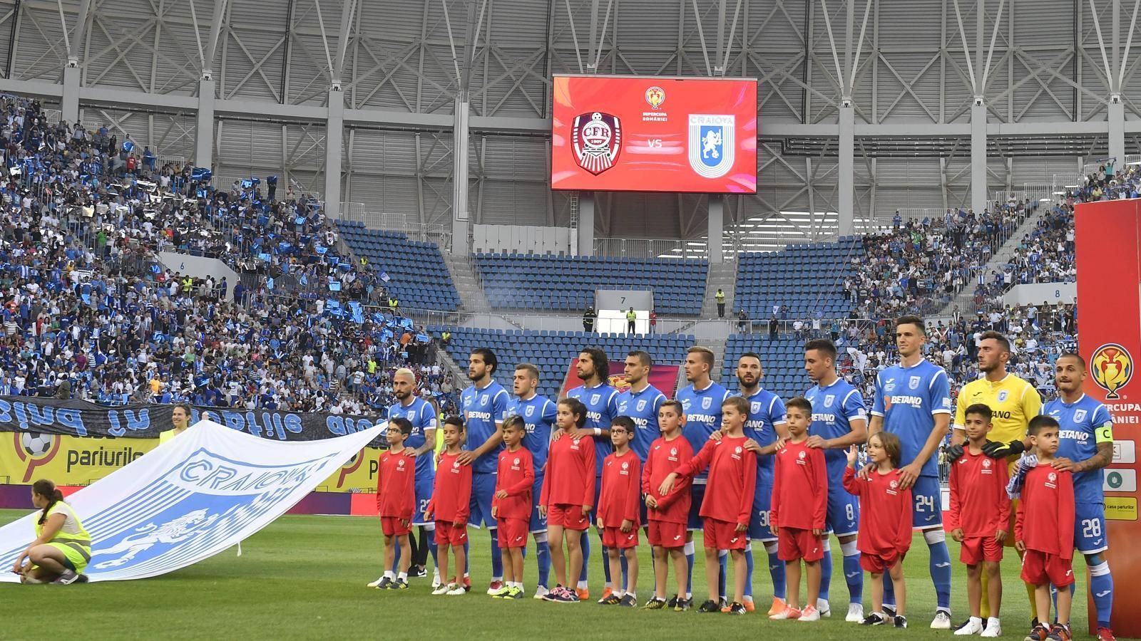
{"type": "Polygon", "coordinates": [[[966,594],[971,618],[956,634],[982,632],[982,599],[990,606],[987,634],[1002,630],[998,608],[1002,603],[1002,544],[1009,534],[1010,496],[1006,495],[1006,462],[995,461],[982,452],[990,431],[990,407],[976,403],[963,411],[966,448],[950,464],[950,512],[947,530],[960,542],[958,560],[966,563],[966,594]],[[982,573],[988,592],[982,594],[982,573]]]}

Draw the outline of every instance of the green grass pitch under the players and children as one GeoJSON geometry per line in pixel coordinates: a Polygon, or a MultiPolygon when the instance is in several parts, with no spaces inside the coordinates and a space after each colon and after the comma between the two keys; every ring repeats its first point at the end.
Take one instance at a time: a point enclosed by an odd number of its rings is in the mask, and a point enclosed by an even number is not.
{"type": "MultiPolygon", "coordinates": [[[[0,525],[23,512],[0,511],[0,525]]],[[[189,568],[145,581],[91,585],[0,584],[0,639],[744,639],[796,635],[806,639],[948,638],[929,630],[934,591],[928,575],[928,553],[916,536],[906,562],[911,628],[863,627],[843,620],[848,590],[835,563],[832,603],[835,615],[817,624],[771,622],[760,612],[771,601],[763,562],[758,562],[758,612],[743,617],[696,611],[645,611],[602,607],[593,602],[556,605],[531,598],[501,601],[483,593],[491,571],[487,535],[471,533],[475,589],[463,597],[432,597],[429,579],[412,579],[406,592],[365,587],[380,573],[382,539],[375,519],[357,517],[286,516],[245,541],[243,554],[227,551],[189,568]]],[[[593,536],[593,534],[591,535],[593,536]]],[[[645,543],[645,542],[644,542],[645,543]]],[[[957,562],[953,541],[953,620],[965,619],[965,568],[957,562]]],[[[701,543],[698,542],[698,546],[701,543]]],[[[760,551],[760,545],[754,544],[760,551]]],[[[593,545],[591,595],[602,589],[598,545],[593,545]]],[[[833,552],[837,550],[833,541],[833,552]]],[[[638,597],[653,587],[649,547],[641,547],[638,597]]],[[[533,544],[532,544],[533,552],[533,544]]],[[[763,559],[763,553],[758,555],[763,559]]],[[[704,571],[698,550],[694,571],[695,600],[704,599],[704,571]]],[[[1078,591],[1074,631],[1086,633],[1085,571],[1075,559],[1078,591]]],[[[528,553],[526,586],[535,585],[534,558],[528,553]]],[[[5,568],[7,571],[8,568],[5,568]]],[[[1030,618],[1026,591],[1018,579],[1017,557],[1003,562],[1003,636],[1021,639],[1030,618]]],[[[429,575],[430,576],[430,575],[429,575]]],[[[553,573],[551,578],[553,579],[553,573]]],[[[730,576],[731,581],[731,576],[730,576]]],[[[671,577],[672,582],[672,577],[671,577]]],[[[865,603],[871,591],[865,575],[865,603]]],[[[731,585],[731,584],[730,584],[731,585]]],[[[801,589],[803,590],[803,587],[801,589]]]]}

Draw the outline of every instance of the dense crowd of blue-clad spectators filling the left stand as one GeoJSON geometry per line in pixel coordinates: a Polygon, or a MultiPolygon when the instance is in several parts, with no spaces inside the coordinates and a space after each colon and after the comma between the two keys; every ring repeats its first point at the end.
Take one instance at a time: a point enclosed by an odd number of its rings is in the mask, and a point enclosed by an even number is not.
{"type": "Polygon", "coordinates": [[[412,366],[454,406],[429,336],[371,307],[386,291],[339,254],[319,203],[276,200],[275,179],[266,195],[253,179],[211,189],[208,171],[50,122],[35,100],[2,97],[0,114],[0,393],[375,414],[412,366]],[[246,277],[172,273],[160,251],[246,277]]]}

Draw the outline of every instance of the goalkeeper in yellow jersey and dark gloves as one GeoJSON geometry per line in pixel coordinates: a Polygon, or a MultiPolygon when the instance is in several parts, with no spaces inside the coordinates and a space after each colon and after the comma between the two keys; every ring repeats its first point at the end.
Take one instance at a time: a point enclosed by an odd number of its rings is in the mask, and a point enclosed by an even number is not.
{"type": "MultiPolygon", "coordinates": [[[[955,407],[955,420],[952,421],[950,447],[947,448],[947,461],[955,462],[963,455],[963,444],[966,432],[963,424],[968,407],[981,403],[990,408],[990,441],[982,448],[992,459],[1005,459],[1008,471],[1013,473],[1019,455],[1030,447],[1026,436],[1026,427],[1030,419],[1042,412],[1042,396],[1034,386],[1006,372],[1010,362],[1010,341],[998,332],[982,332],[979,336],[979,372],[976,379],[958,391],[958,403],[955,407]]],[[[1014,532],[1014,514],[1018,512],[1018,500],[1011,503],[1010,522],[1006,532],[1014,532]]],[[[1014,537],[1008,536],[1005,545],[1012,547],[1014,537]]],[[[1021,558],[1021,554],[1019,554],[1021,558]]],[[[982,593],[988,594],[988,581],[982,574],[982,593]]],[[[1030,611],[1034,611],[1034,585],[1027,584],[1027,595],[1030,600],[1030,611]]],[[[982,601],[981,617],[990,616],[990,605],[982,601]]]]}

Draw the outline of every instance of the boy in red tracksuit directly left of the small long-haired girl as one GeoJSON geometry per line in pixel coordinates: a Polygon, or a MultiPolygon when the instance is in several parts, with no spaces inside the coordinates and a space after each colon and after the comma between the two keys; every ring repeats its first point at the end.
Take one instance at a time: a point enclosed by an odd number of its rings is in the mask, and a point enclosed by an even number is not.
{"type": "Polygon", "coordinates": [[[776,453],[769,527],[777,536],[777,555],[785,561],[787,600],[771,619],[820,620],[816,600],[820,595],[820,559],[824,558],[824,518],[828,508],[828,472],[824,451],[808,447],[812,404],[793,398],[785,404],[788,443],[776,453]],[[800,609],[800,561],[808,575],[808,600],[800,609]]]}

